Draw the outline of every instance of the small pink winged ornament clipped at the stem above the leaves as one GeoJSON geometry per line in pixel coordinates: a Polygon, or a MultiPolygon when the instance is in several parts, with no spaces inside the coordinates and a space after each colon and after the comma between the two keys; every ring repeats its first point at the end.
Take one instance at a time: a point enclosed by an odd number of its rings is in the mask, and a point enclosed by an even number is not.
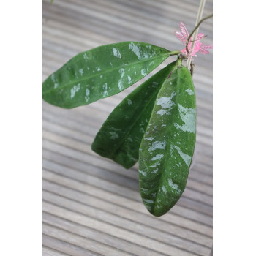
{"type": "MultiPolygon", "coordinates": [[[[187,38],[189,37],[189,32],[187,31],[184,23],[181,22],[179,27],[180,27],[181,32],[175,31],[174,34],[186,46],[187,38]]],[[[191,59],[192,56],[197,57],[197,55],[195,55],[195,53],[197,53],[197,51],[202,54],[209,54],[209,51],[207,49],[212,49],[212,45],[206,45],[206,44],[203,44],[202,42],[200,42],[200,40],[203,39],[204,36],[205,35],[203,33],[197,34],[197,39],[195,40],[195,47],[194,47],[193,52],[191,49],[192,37],[190,37],[189,43],[187,45],[189,53],[187,52],[186,47],[183,50],[181,50],[181,53],[184,53],[184,55],[187,56],[187,58],[189,58],[189,59],[191,59]]]]}

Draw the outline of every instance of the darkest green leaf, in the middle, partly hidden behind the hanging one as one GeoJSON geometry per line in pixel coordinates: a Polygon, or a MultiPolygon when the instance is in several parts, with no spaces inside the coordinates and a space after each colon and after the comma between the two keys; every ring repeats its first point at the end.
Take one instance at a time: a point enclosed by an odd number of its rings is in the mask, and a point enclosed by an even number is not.
{"type": "Polygon", "coordinates": [[[157,72],[110,113],[91,145],[93,151],[127,169],[135,165],[157,93],[175,66],[173,62],[157,72]]]}

